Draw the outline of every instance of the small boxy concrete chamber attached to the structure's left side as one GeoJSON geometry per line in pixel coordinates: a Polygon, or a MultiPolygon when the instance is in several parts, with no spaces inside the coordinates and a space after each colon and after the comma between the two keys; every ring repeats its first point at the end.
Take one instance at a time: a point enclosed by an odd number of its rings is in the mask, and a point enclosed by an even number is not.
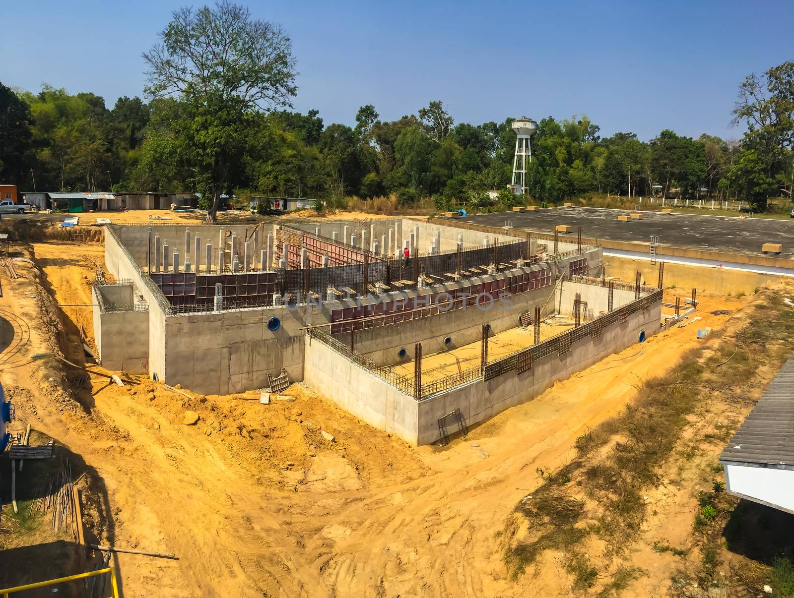
{"type": "MultiPolygon", "coordinates": [[[[100,287],[102,295],[118,295],[124,301],[132,286],[100,287]]],[[[129,374],[148,374],[148,311],[102,312],[99,308],[97,289],[92,289],[94,303],[94,342],[99,363],[108,370],[120,370],[129,374]]],[[[102,301],[106,301],[102,297],[102,301]]],[[[106,303],[107,305],[107,303],[106,303]]],[[[123,304],[120,304],[123,305],[123,304]]],[[[132,302],[128,304],[132,307],[132,302]]]]}

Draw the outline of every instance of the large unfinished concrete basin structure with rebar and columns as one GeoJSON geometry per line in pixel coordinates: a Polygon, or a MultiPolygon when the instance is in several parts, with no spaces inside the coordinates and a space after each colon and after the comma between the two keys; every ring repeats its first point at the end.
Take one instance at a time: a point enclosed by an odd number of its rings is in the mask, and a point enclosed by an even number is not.
{"type": "Polygon", "coordinates": [[[206,394],[306,381],[414,445],[660,328],[661,290],[599,278],[600,247],[511,229],[110,225],[105,252],[102,365],[206,394]]]}

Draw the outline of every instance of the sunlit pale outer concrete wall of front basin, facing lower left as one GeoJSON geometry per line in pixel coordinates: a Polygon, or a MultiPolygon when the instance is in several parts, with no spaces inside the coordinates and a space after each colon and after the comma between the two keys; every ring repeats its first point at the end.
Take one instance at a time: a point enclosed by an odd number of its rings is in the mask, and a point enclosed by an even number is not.
{"type": "Polygon", "coordinates": [[[306,335],[306,384],[368,424],[418,443],[418,403],[306,335]]]}

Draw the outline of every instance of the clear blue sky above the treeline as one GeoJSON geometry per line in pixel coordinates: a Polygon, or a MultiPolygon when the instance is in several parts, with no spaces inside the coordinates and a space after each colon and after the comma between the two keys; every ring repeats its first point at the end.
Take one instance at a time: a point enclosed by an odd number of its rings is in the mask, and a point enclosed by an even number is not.
{"type": "MultiPolygon", "coordinates": [[[[672,128],[740,137],[742,79],[794,59],[794,2],[243,2],[283,25],[298,60],[295,109],[353,124],[431,100],[456,122],[587,114],[604,135],[672,128]]],[[[0,0],[0,82],[141,95],[174,0],[0,0]]],[[[196,3],[196,4],[200,4],[196,3]]]]}

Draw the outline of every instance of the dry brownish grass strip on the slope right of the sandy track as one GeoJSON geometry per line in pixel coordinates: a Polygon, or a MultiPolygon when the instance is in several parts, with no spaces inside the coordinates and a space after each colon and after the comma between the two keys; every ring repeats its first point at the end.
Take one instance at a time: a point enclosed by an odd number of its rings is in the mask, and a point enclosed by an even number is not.
{"type": "MultiPolygon", "coordinates": [[[[576,457],[561,470],[536,472],[542,485],[517,505],[518,518],[508,519],[503,535],[503,558],[512,577],[522,574],[544,550],[557,550],[571,555],[565,567],[574,584],[591,588],[588,583],[595,582],[592,562],[584,555],[576,556],[577,544],[590,534],[597,535],[606,542],[603,556],[608,560],[638,538],[646,519],[644,493],[658,484],[657,472],[676,449],[688,426],[687,417],[707,406],[715,393],[747,401],[748,391],[761,381],[758,370],[780,366],[794,350],[794,310],[784,306],[780,296],[763,289],[750,310],[745,328],[734,338],[716,332],[707,344],[683,355],[670,374],[640,385],[634,401],[619,416],[588,429],[576,440],[576,457]],[[575,483],[569,485],[571,481],[575,483]],[[588,504],[595,502],[592,512],[585,511],[580,500],[584,497],[588,504]],[[531,533],[515,539],[522,517],[529,520],[531,533]],[[591,522],[585,526],[584,519],[591,522]]],[[[720,426],[719,435],[729,435],[732,427],[720,426]]],[[[684,459],[696,454],[696,449],[680,451],[684,459]]],[[[717,465],[712,469],[722,472],[717,465]]],[[[695,531],[716,527],[726,511],[723,489],[714,484],[711,493],[703,494],[695,531]]],[[[660,548],[685,554],[670,546],[660,548]]],[[[701,556],[706,577],[711,577],[717,552],[707,545],[701,556]]]]}

